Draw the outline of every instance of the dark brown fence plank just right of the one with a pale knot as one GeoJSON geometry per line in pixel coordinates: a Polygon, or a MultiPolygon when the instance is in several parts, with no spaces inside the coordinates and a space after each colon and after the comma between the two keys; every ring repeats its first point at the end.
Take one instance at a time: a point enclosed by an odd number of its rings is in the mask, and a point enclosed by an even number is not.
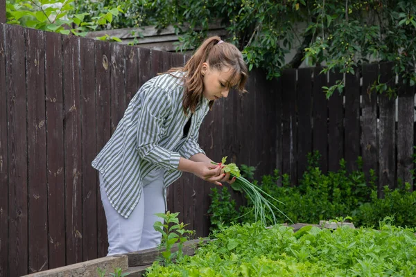
{"type": "Polygon", "coordinates": [[[119,121],[123,117],[125,105],[125,46],[111,44],[110,66],[110,96],[111,96],[111,133],[116,130],[119,121]]]}

